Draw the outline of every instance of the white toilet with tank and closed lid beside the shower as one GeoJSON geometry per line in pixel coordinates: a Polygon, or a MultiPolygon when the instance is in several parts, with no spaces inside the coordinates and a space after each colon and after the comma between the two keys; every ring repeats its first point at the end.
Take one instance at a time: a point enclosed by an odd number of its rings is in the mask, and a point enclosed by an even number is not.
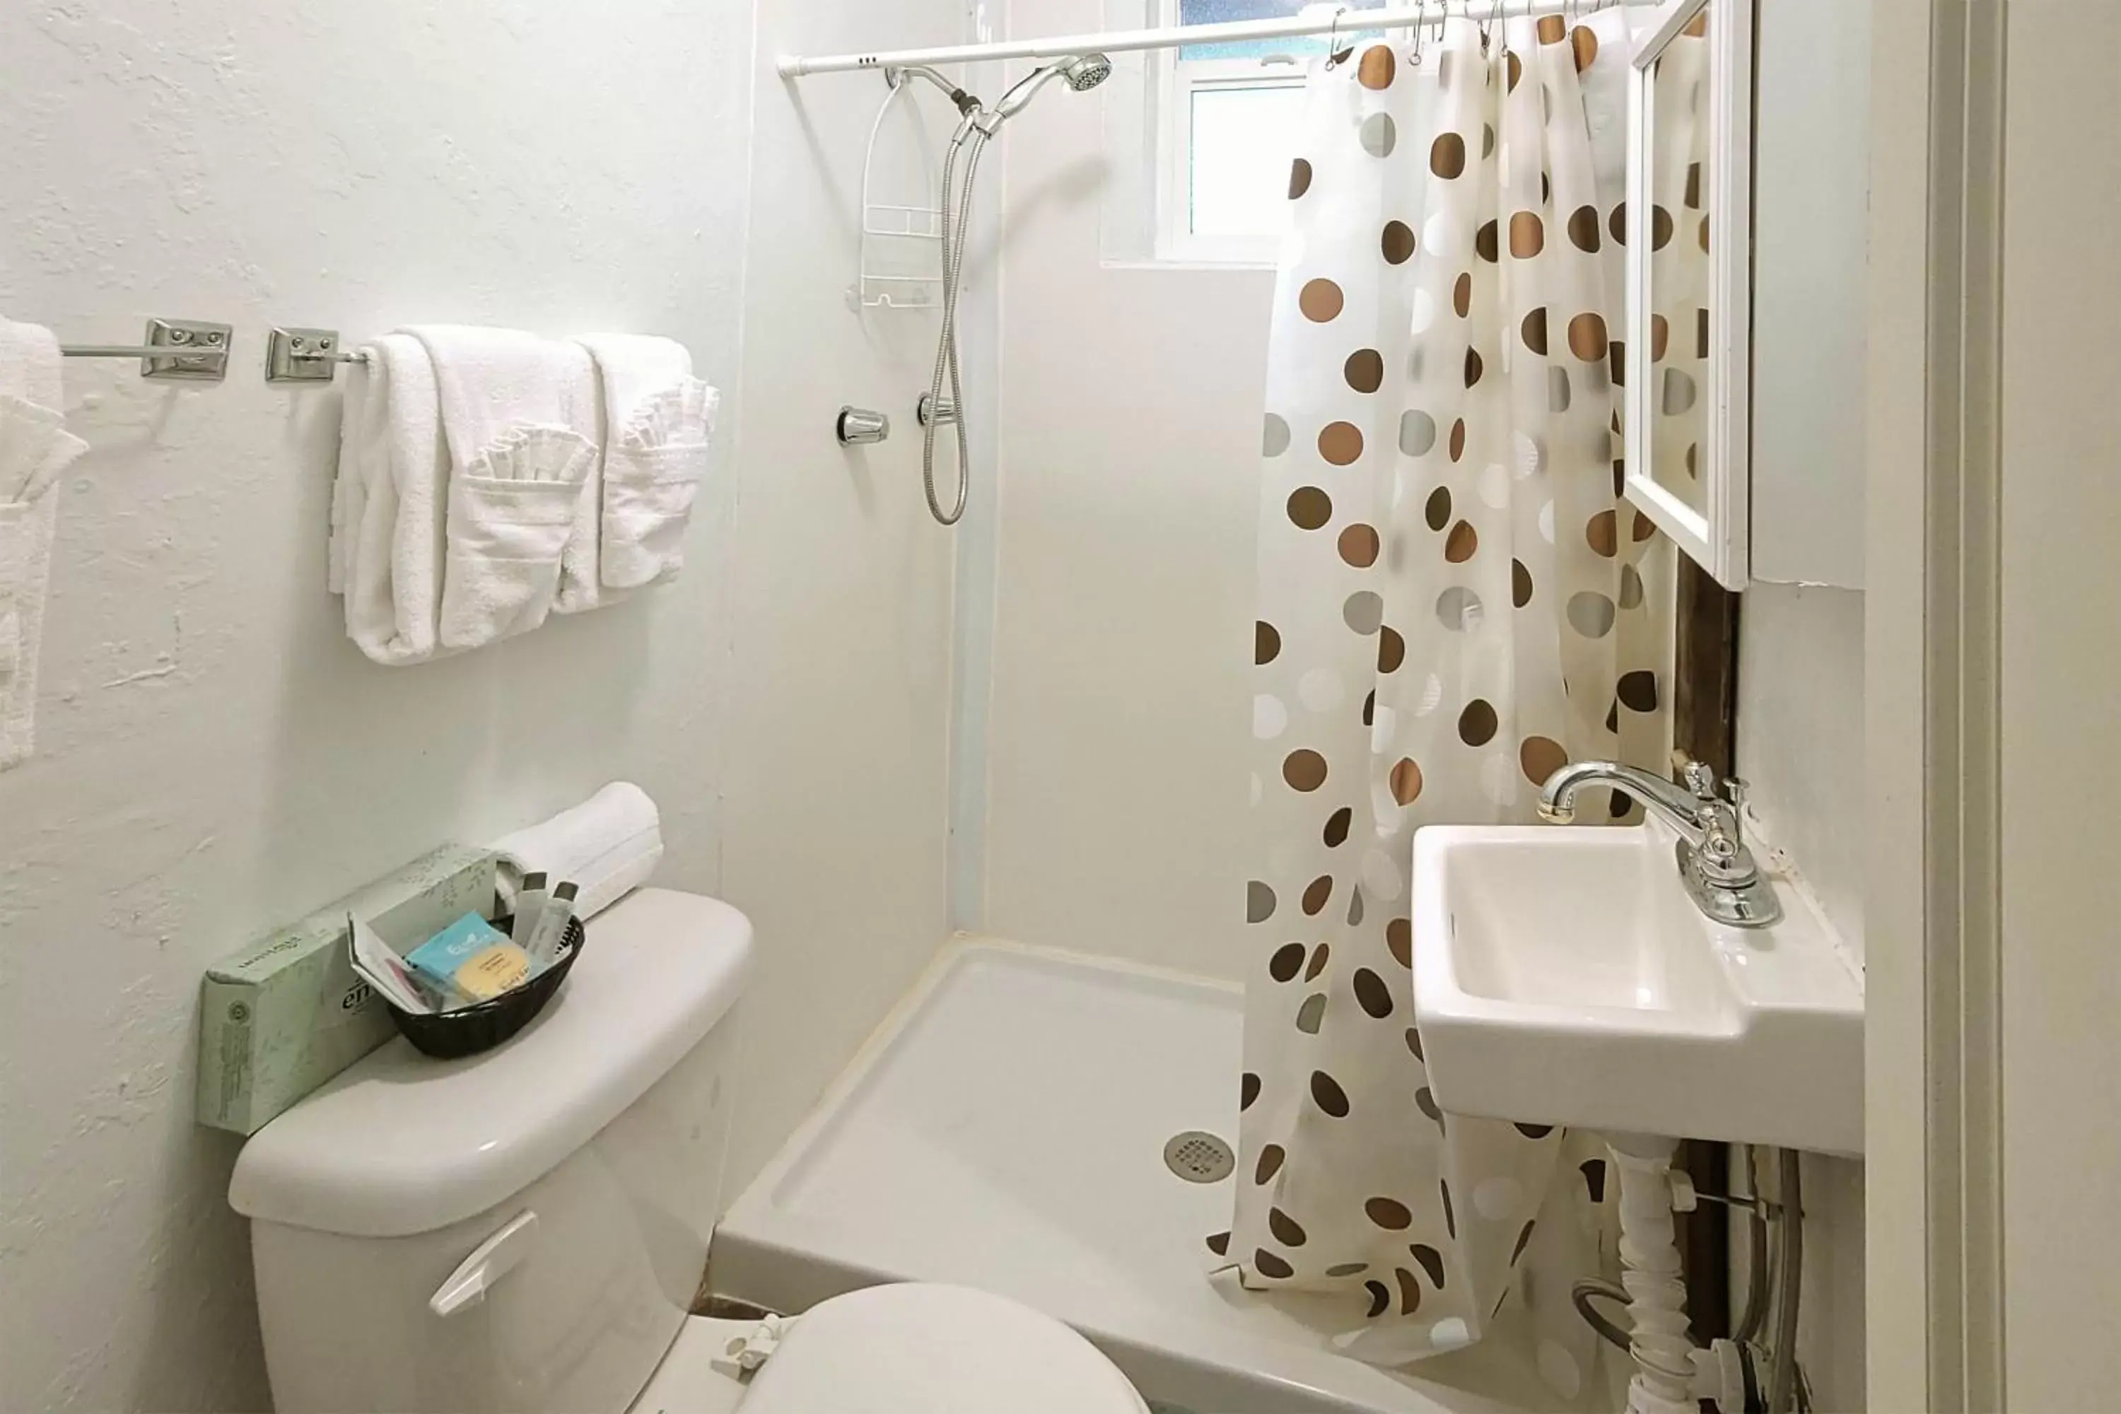
{"type": "Polygon", "coordinates": [[[823,1302],[742,1384],[687,1316],[721,1213],[751,922],[645,888],[486,1056],[405,1041],[244,1147],[278,1414],[1143,1414],[1027,1306],[901,1285],[823,1302]]]}

